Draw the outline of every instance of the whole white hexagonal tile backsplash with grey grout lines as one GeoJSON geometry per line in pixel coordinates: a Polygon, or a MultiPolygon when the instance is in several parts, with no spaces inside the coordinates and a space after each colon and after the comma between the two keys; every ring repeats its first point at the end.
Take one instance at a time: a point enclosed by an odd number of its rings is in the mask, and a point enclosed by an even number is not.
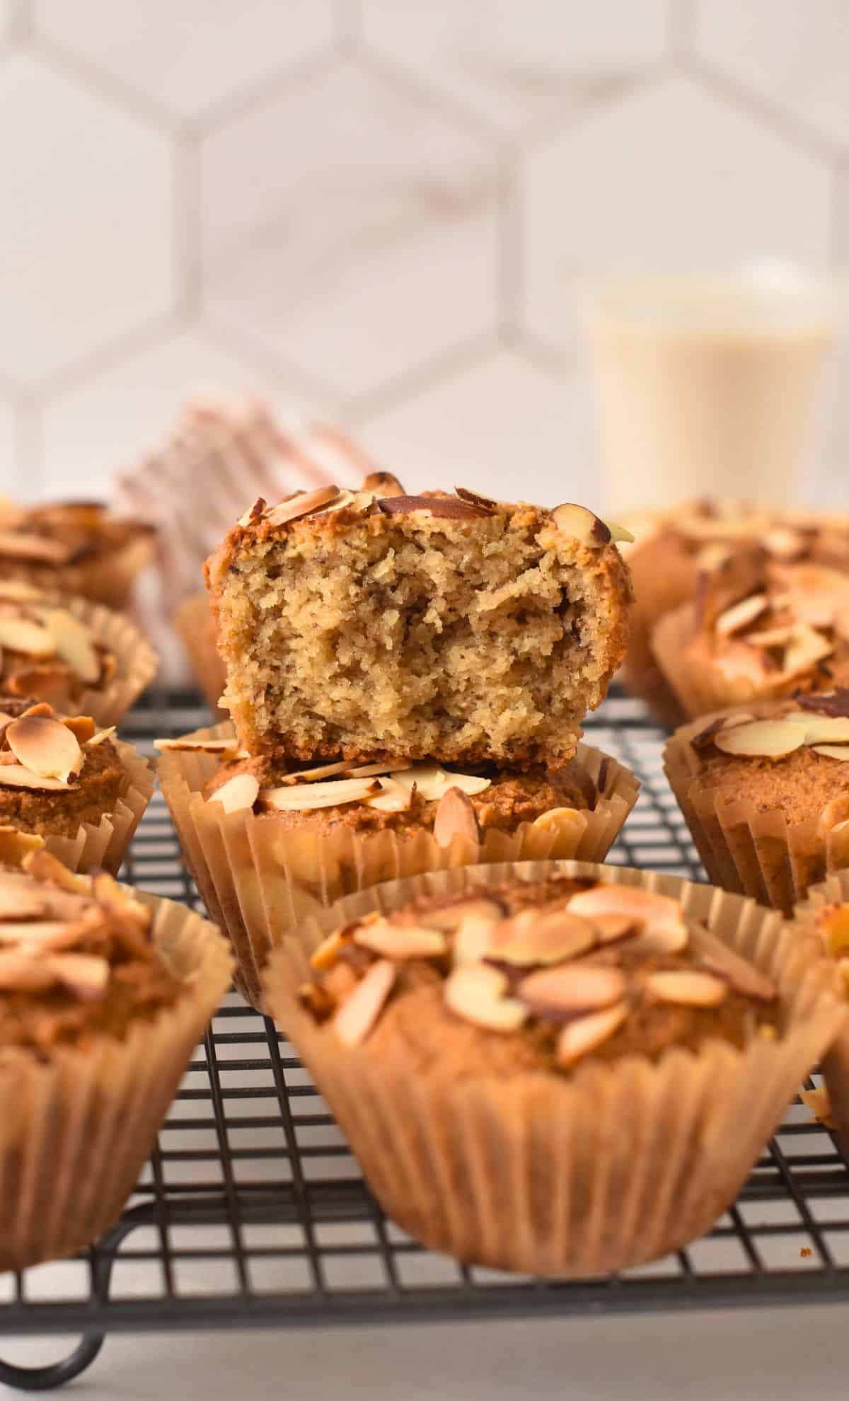
{"type": "Polygon", "coordinates": [[[846,262],[848,62],[845,0],[0,0],[0,490],[220,387],[593,503],[584,280],[846,262]]]}

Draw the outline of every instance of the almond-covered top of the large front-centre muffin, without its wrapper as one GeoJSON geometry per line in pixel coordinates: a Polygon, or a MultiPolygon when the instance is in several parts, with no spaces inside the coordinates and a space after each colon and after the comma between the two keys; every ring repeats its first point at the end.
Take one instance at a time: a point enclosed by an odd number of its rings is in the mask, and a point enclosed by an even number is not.
{"type": "Polygon", "coordinates": [[[549,878],[417,899],[335,930],[301,1005],[343,1045],[458,1079],[778,1034],[778,991],[667,895],[549,878]]]}

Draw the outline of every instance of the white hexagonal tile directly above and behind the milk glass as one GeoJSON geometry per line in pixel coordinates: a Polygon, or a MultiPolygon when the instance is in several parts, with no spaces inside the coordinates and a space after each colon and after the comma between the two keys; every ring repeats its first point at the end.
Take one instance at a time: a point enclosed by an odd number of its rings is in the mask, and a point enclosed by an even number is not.
{"type": "Polygon", "coordinates": [[[611,265],[828,255],[825,164],[684,77],[538,144],[521,186],[524,315],[553,345],[573,342],[581,276],[611,265]]]}

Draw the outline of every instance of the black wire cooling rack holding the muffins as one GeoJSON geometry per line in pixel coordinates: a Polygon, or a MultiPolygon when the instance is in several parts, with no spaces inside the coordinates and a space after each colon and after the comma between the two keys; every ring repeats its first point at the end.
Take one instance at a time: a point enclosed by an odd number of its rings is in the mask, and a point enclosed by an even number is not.
{"type": "MultiPolygon", "coordinates": [[[[192,695],[149,696],[122,733],[209,722],[192,695]]],[[[661,769],[663,731],[612,695],[587,724],[643,792],[611,860],[699,877],[661,769]]],[[[198,905],[157,793],[125,878],[198,905]]],[[[273,1024],[230,993],[198,1048],[123,1217],[87,1254],[0,1276],[0,1332],[81,1334],[49,1367],[0,1380],[60,1386],[111,1331],[441,1321],[849,1299],[849,1173],[834,1136],[790,1108],[740,1199],[703,1240],[607,1279],[539,1281],[422,1250],[387,1220],[310,1076],[273,1024]]]]}

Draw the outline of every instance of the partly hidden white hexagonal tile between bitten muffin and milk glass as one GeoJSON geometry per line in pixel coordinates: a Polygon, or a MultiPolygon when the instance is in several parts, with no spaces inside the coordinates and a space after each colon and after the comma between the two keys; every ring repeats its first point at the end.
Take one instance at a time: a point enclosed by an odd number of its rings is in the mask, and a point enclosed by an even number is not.
{"type": "Polygon", "coordinates": [[[408,490],[460,483],[507,500],[601,506],[586,381],[506,350],[367,419],[360,439],[408,490]]]}

